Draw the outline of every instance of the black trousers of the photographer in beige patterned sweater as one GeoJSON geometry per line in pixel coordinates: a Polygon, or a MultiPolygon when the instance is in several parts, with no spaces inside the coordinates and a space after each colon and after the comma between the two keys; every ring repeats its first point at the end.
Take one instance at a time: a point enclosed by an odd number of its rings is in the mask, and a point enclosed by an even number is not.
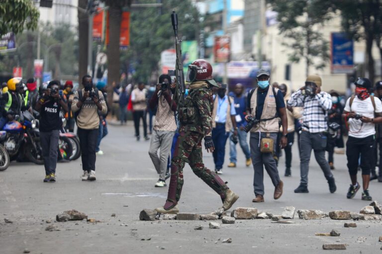
{"type": "Polygon", "coordinates": [[[98,139],[98,129],[78,128],[81,145],[82,169],[90,172],[95,170],[95,147],[98,139]]]}

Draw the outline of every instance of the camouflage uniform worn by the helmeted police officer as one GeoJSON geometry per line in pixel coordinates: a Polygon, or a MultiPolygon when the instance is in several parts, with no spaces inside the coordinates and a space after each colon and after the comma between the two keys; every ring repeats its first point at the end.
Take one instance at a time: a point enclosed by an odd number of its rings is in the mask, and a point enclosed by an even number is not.
{"type": "Polygon", "coordinates": [[[168,198],[164,208],[174,207],[181,198],[183,187],[183,168],[189,163],[193,173],[216,191],[222,201],[225,200],[227,185],[214,171],[203,164],[201,141],[204,136],[211,135],[213,108],[212,91],[204,81],[191,84],[190,94],[185,105],[180,109],[181,127],[171,162],[171,179],[168,198]],[[194,86],[197,88],[193,88],[194,86]]]}

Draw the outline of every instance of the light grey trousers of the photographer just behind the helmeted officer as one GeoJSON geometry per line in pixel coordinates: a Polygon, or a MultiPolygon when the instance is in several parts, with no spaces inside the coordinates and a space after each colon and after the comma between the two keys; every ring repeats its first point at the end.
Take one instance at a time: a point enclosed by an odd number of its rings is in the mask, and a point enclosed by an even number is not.
{"type": "Polygon", "coordinates": [[[159,174],[159,179],[162,180],[165,180],[165,174],[174,134],[175,131],[153,129],[151,136],[149,155],[153,161],[155,169],[159,174]],[[159,149],[160,151],[158,157],[159,149]]]}

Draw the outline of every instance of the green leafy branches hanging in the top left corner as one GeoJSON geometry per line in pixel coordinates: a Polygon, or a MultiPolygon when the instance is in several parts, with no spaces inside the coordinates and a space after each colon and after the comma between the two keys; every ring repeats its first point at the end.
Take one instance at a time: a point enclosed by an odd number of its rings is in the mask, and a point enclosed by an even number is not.
{"type": "Polygon", "coordinates": [[[40,13],[31,0],[0,1],[0,36],[8,32],[19,33],[37,27],[40,13]]]}

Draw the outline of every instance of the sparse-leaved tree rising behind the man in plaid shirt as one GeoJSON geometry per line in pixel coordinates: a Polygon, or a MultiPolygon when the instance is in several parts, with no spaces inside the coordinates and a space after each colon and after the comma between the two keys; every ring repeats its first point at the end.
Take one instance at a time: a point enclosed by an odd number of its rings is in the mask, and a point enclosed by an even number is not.
{"type": "Polygon", "coordinates": [[[268,0],[278,12],[279,28],[289,42],[283,43],[292,52],[289,61],[306,62],[306,75],[309,67],[321,69],[329,60],[329,43],[319,31],[319,25],[330,19],[333,8],[326,0],[268,0]]]}

